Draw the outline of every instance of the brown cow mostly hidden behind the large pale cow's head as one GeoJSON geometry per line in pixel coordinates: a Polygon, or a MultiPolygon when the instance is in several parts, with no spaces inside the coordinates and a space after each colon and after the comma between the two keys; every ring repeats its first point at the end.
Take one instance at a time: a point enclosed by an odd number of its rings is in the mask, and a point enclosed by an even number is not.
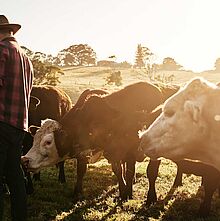
{"type": "MultiPolygon", "coordinates": [[[[161,89],[163,102],[165,102],[173,94],[177,93],[180,88],[179,85],[157,84],[157,86],[159,86],[161,89]]],[[[161,108],[158,112],[161,112],[161,108]]],[[[156,119],[156,116],[154,117],[156,119]]],[[[150,162],[147,166],[147,178],[149,180],[149,190],[146,200],[147,206],[150,206],[157,201],[155,182],[158,176],[160,162],[161,160],[155,160],[154,158],[152,158],[150,159],[150,162]]],[[[201,217],[208,216],[210,213],[212,195],[214,191],[220,186],[219,171],[214,167],[201,162],[194,162],[191,160],[179,160],[174,162],[177,165],[177,174],[173,183],[174,188],[182,185],[183,173],[194,174],[202,177],[202,185],[204,186],[205,195],[202,203],[200,204],[198,215],[201,217]]]]}

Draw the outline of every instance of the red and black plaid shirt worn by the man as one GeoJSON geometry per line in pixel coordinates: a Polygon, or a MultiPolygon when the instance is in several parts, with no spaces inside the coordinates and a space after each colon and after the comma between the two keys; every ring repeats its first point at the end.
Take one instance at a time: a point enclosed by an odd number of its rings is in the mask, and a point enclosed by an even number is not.
{"type": "Polygon", "coordinates": [[[28,128],[33,67],[14,37],[0,41],[0,121],[28,128]]]}

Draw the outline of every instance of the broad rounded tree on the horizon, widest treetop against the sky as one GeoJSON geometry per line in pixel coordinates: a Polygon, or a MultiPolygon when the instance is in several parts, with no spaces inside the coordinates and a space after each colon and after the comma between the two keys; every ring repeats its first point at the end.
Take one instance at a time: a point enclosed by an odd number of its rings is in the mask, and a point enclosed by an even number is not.
{"type": "Polygon", "coordinates": [[[87,44],[71,45],[57,55],[62,65],[89,66],[95,65],[96,53],[87,44]]]}

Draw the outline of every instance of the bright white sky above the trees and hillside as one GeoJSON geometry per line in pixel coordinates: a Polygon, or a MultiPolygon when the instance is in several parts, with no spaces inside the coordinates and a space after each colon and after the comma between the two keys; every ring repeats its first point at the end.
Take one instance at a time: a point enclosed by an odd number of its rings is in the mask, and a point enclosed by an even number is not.
{"type": "Polygon", "coordinates": [[[97,59],[134,63],[137,45],[154,61],[172,57],[187,70],[214,69],[220,58],[219,0],[1,0],[0,13],[22,25],[32,51],[57,53],[88,44],[97,59]]]}

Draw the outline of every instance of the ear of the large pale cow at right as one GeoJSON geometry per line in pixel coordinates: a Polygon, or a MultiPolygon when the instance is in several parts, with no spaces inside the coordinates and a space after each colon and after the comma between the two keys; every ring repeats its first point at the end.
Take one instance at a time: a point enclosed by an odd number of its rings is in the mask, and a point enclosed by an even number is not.
{"type": "Polygon", "coordinates": [[[184,111],[191,114],[194,122],[198,122],[201,115],[201,104],[193,101],[186,101],[184,104],[184,111]]]}

